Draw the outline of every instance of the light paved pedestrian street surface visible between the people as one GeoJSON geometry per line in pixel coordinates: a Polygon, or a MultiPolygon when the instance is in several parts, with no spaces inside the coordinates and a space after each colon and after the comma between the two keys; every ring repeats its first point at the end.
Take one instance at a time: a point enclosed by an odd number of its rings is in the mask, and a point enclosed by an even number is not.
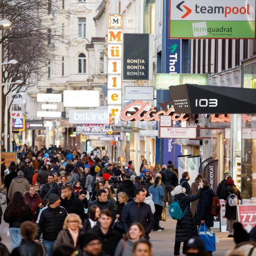
{"type": "MultiPolygon", "coordinates": [[[[2,211],[5,211],[6,204],[1,205],[2,211]]],[[[153,244],[154,256],[172,256],[175,244],[175,226],[176,221],[172,220],[167,215],[167,222],[160,222],[160,225],[165,228],[163,231],[156,231],[150,233],[150,241],[153,244]]],[[[0,235],[2,243],[4,243],[9,250],[12,248],[11,238],[7,237],[8,224],[2,219],[0,225],[0,235]]],[[[213,253],[214,256],[224,256],[228,249],[234,247],[232,238],[227,238],[227,233],[220,233],[218,230],[213,230],[216,236],[219,237],[219,243],[216,243],[217,251],[213,253]]],[[[181,246],[182,247],[182,246],[181,246]]],[[[182,248],[181,248],[182,255],[182,248]]]]}

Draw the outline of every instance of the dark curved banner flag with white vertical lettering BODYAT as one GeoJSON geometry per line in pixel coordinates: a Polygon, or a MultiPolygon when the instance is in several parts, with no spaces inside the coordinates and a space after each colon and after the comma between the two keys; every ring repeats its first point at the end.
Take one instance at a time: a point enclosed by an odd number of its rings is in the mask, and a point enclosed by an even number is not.
{"type": "Polygon", "coordinates": [[[219,179],[218,179],[218,162],[219,160],[214,160],[212,162],[209,162],[204,167],[203,176],[205,179],[208,180],[210,189],[213,190],[214,193],[217,192],[217,187],[219,185],[219,179]]]}

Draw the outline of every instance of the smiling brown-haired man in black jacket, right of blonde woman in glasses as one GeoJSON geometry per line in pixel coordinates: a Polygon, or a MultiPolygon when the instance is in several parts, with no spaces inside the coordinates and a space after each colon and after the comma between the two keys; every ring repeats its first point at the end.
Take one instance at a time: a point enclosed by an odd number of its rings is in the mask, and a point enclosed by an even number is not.
{"type": "Polygon", "coordinates": [[[98,222],[99,224],[94,226],[92,231],[101,238],[103,251],[112,256],[115,253],[119,240],[122,239],[122,235],[113,230],[111,226],[112,214],[108,209],[101,210],[98,222]]]}

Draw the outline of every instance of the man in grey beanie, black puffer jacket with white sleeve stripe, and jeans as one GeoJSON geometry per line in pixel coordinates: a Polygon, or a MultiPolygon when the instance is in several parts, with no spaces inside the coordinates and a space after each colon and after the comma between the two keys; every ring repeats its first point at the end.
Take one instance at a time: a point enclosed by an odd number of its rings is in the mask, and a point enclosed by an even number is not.
{"type": "Polygon", "coordinates": [[[54,241],[57,239],[59,231],[62,230],[67,216],[66,209],[60,206],[60,202],[57,194],[49,193],[49,204],[39,213],[36,222],[39,229],[35,241],[38,242],[40,235],[43,235],[47,256],[52,256],[54,241]]]}

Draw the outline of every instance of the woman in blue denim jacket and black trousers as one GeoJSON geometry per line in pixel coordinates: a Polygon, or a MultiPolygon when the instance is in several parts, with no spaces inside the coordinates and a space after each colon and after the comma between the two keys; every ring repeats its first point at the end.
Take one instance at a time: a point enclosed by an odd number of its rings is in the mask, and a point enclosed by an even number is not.
{"type": "Polygon", "coordinates": [[[165,205],[165,193],[161,186],[161,179],[160,177],[155,178],[154,185],[149,187],[148,192],[153,196],[153,202],[155,204],[155,213],[154,213],[154,225],[153,231],[158,231],[159,229],[159,222],[160,217],[162,215],[162,209],[165,205]]]}

